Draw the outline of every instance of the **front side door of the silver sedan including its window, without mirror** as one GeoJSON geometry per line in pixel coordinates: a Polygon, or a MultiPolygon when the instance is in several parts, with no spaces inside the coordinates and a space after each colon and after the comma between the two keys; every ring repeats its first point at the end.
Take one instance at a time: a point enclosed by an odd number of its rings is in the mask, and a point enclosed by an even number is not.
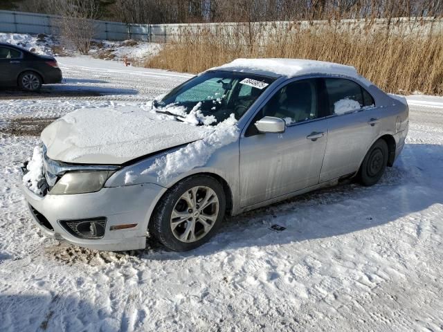
{"type": "Polygon", "coordinates": [[[293,80],[257,111],[239,142],[242,207],[318,183],[327,141],[321,82],[293,80]],[[284,133],[259,133],[264,116],[284,119],[284,133]]]}

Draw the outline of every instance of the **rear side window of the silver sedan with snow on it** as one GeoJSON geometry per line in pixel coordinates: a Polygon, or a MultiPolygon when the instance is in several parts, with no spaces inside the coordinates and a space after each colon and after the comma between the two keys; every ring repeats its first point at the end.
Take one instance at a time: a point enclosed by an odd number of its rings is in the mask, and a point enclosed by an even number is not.
{"type": "Polygon", "coordinates": [[[360,84],[343,78],[325,78],[329,114],[343,114],[374,105],[374,99],[360,84]]]}

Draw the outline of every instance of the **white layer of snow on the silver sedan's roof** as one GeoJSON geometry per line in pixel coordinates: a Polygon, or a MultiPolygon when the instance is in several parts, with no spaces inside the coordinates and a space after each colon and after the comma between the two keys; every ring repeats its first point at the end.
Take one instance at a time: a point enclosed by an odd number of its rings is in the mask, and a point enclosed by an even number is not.
{"type": "Polygon", "coordinates": [[[233,62],[210,70],[242,71],[273,77],[334,74],[360,78],[356,69],[352,66],[307,59],[235,59],[233,62]]]}

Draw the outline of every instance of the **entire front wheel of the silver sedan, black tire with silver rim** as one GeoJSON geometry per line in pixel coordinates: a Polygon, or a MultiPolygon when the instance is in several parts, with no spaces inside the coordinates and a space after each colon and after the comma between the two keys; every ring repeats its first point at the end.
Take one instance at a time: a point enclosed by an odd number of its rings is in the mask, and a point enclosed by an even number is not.
{"type": "Polygon", "coordinates": [[[190,176],[165,193],[148,228],[165,247],[174,251],[192,250],[213,237],[224,219],[225,209],[226,198],[219,181],[207,175],[190,176]],[[210,204],[201,206],[206,199],[210,204]]]}

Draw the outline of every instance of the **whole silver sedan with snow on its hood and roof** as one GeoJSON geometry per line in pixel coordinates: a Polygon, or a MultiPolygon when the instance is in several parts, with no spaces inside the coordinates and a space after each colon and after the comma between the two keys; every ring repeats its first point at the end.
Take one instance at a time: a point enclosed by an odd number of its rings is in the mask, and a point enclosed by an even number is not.
{"type": "Polygon", "coordinates": [[[50,124],[22,167],[23,190],[48,237],[132,250],[151,234],[191,250],[226,214],[345,178],[374,185],[407,131],[406,100],[350,66],[237,59],[143,111],[76,111],[50,124]]]}

